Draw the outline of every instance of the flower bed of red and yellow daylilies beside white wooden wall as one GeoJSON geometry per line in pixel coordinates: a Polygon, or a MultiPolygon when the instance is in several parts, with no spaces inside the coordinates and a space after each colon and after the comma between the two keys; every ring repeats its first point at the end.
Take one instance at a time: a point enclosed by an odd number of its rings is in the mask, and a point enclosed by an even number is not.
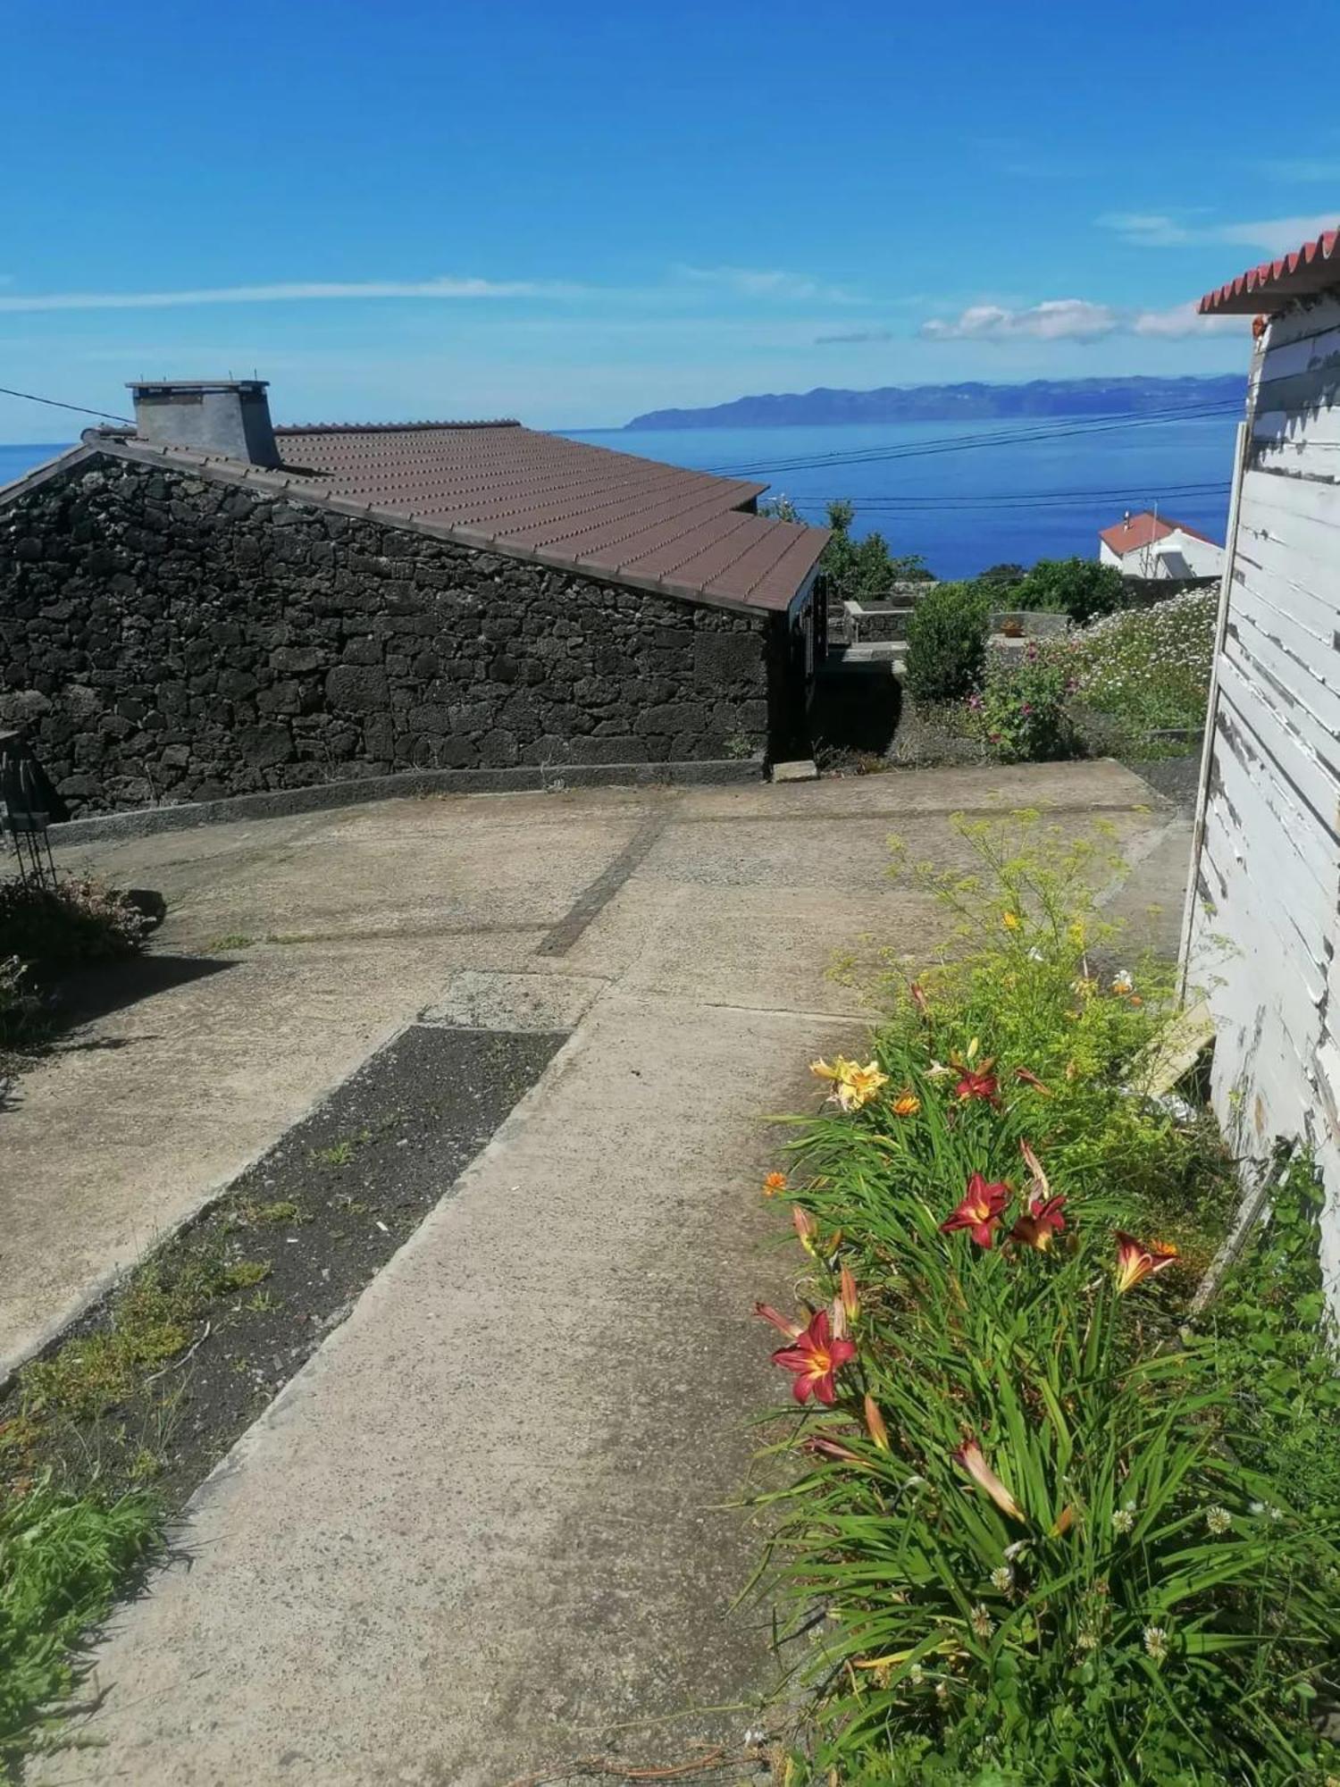
{"type": "Polygon", "coordinates": [[[1310,1179],[1190,1326],[1236,1187],[1142,1085],[1172,999],[1113,958],[1108,851],[959,835],[967,872],[904,867],[949,949],[888,963],[868,1061],[815,1063],[802,1306],[761,1312],[804,1408],[784,1589],[797,1628],[829,1615],[791,1778],[1320,1787],[1340,1444],[1310,1179]]]}

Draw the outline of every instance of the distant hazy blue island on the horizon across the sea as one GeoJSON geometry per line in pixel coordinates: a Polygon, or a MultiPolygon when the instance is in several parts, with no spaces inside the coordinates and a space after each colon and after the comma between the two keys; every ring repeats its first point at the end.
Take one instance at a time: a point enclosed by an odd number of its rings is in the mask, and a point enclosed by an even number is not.
{"type": "Polygon", "coordinates": [[[1240,404],[1242,373],[1213,379],[1033,379],[1029,384],[884,384],[877,391],[736,397],[709,409],[649,409],[625,429],[831,427],[843,422],[983,422],[995,416],[1129,416],[1240,404]]]}

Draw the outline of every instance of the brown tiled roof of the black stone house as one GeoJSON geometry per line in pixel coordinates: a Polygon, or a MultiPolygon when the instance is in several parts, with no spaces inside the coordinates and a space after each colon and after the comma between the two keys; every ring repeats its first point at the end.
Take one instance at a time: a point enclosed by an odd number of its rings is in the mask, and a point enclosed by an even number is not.
{"type": "Polygon", "coordinates": [[[465,545],[616,583],[786,608],[827,533],[750,515],[766,490],[520,424],[275,429],[286,468],[465,545]]]}

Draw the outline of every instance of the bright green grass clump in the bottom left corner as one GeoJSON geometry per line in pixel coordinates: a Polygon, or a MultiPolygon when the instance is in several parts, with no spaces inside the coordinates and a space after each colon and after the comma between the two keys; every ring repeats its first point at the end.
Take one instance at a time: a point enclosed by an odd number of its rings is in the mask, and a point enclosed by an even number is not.
{"type": "Polygon", "coordinates": [[[157,1533],[145,1494],[77,1496],[41,1480],[0,1499],[0,1767],[54,1741],[54,1708],[82,1673],[75,1646],[157,1533]]]}

